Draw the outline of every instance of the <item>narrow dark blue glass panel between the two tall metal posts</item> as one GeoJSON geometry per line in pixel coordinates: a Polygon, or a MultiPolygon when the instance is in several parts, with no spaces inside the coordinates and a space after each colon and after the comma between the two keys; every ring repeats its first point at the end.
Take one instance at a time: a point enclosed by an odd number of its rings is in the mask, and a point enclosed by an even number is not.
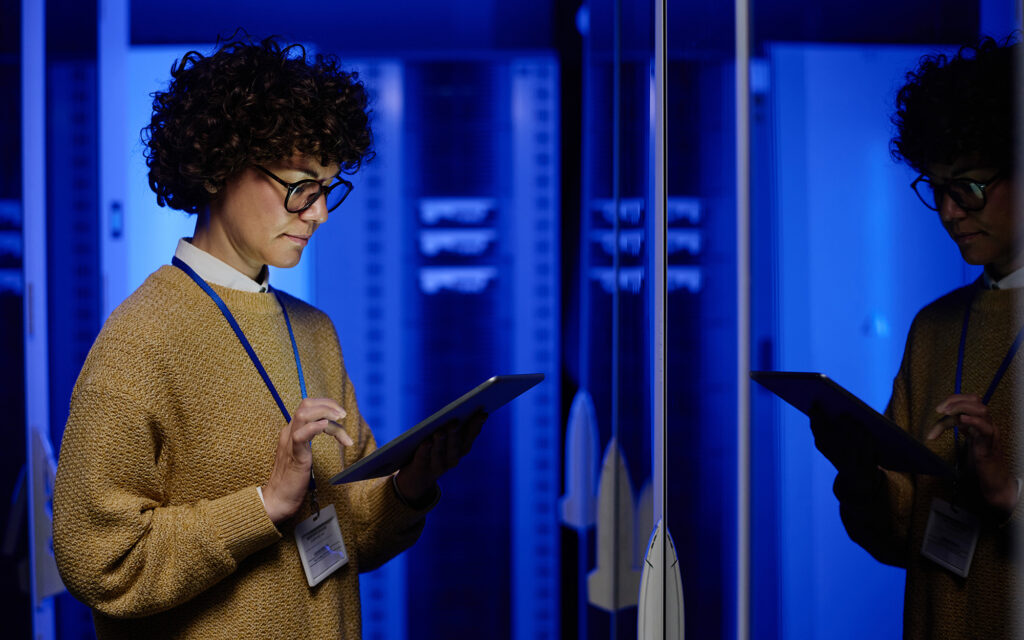
{"type": "Polygon", "coordinates": [[[669,3],[669,528],[686,633],[736,633],[736,190],[732,3],[669,3]]]}

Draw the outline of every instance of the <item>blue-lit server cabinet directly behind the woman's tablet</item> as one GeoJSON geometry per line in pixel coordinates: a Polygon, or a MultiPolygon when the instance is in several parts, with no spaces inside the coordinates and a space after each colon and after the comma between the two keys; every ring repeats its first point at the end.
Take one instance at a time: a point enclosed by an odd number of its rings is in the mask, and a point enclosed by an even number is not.
{"type": "Polygon", "coordinates": [[[442,478],[416,546],[364,577],[364,634],[557,637],[557,67],[356,68],[376,158],[318,232],[312,279],[378,440],[492,375],[546,375],[442,478]]]}

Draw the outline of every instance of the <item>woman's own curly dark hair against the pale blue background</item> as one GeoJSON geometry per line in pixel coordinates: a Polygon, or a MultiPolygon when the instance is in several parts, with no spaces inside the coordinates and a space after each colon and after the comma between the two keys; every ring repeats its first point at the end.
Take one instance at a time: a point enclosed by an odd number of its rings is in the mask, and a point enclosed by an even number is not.
{"type": "Polygon", "coordinates": [[[198,213],[232,175],[296,152],[349,174],[373,156],[366,88],[333,55],[238,40],[209,56],[189,51],[171,77],[142,130],[162,207],[198,213]]]}

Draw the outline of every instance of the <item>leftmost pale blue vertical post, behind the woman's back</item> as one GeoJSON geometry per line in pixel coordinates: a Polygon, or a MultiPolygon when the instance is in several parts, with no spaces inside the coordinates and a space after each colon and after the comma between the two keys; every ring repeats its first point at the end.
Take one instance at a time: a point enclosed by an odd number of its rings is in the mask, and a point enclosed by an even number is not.
{"type": "MultiPolygon", "coordinates": [[[[47,470],[37,455],[49,441],[49,372],[46,326],[46,2],[22,0],[22,228],[25,246],[26,486],[33,637],[54,637],[53,599],[40,582],[48,553],[49,522],[38,516],[47,470]],[[43,521],[41,521],[43,520],[43,521]]],[[[52,562],[52,560],[49,560],[52,562]]]]}

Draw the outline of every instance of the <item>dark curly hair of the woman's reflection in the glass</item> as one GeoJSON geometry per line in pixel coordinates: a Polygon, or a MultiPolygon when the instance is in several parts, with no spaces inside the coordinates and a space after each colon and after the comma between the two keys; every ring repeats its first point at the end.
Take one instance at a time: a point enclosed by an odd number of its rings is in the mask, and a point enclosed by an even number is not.
{"type": "Polygon", "coordinates": [[[995,168],[1014,167],[1014,56],[1020,46],[984,38],[955,55],[926,55],[896,96],[892,157],[926,172],[978,156],[995,168]]]}

